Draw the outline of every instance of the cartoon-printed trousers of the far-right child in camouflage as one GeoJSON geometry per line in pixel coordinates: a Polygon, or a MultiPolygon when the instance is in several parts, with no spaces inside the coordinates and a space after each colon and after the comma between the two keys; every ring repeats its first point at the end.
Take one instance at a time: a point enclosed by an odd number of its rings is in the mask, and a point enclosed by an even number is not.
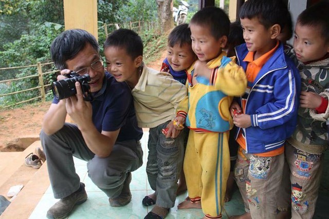
{"type": "Polygon", "coordinates": [[[323,153],[311,154],[286,142],[286,165],[279,193],[278,208],[291,206],[291,218],[313,218],[323,169],[323,153]]]}

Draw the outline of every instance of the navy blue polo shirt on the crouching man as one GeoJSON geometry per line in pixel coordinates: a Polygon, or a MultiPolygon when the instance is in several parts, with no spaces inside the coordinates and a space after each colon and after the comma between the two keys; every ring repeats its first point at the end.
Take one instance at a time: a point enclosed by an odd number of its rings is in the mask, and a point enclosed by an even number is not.
{"type": "MultiPolygon", "coordinates": [[[[117,142],[140,140],[143,131],[137,126],[130,88],[124,82],[117,82],[108,72],[105,72],[105,78],[101,90],[93,93],[91,102],[95,127],[99,132],[121,128],[117,142]]],[[[52,101],[54,104],[58,102],[56,98],[52,101]]]]}

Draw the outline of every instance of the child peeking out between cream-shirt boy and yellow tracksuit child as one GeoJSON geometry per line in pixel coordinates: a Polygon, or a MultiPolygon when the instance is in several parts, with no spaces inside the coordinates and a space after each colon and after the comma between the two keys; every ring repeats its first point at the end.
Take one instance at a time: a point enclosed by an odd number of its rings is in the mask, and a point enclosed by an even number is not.
{"type": "MultiPolygon", "coordinates": [[[[160,71],[170,73],[175,80],[182,84],[186,84],[187,73],[189,68],[196,60],[196,55],[191,47],[191,30],[188,24],[176,26],[168,36],[168,53],[163,60],[160,71]]],[[[185,129],[188,132],[188,129],[185,129]]],[[[186,135],[186,147],[188,133],[186,135]]],[[[180,177],[178,180],[177,195],[187,190],[184,169],[181,168],[180,177]]]]}

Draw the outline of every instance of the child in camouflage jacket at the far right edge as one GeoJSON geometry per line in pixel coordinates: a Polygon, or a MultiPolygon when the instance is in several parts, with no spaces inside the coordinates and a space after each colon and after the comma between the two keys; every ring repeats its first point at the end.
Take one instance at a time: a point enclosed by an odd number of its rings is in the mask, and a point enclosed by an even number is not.
{"type": "MultiPolygon", "coordinates": [[[[329,116],[329,3],[304,10],[297,19],[294,49],[288,54],[302,78],[298,124],[285,145],[290,177],[280,197],[291,201],[292,218],[312,218],[318,198],[329,116]],[[290,181],[289,181],[290,180],[290,181]],[[291,197],[290,197],[291,195],[291,197]]],[[[282,187],[282,188],[284,188],[282,187]]],[[[283,201],[283,203],[286,203],[283,201]]],[[[279,206],[281,203],[278,203],[279,206]]],[[[286,208],[290,202],[286,203],[286,208]]]]}

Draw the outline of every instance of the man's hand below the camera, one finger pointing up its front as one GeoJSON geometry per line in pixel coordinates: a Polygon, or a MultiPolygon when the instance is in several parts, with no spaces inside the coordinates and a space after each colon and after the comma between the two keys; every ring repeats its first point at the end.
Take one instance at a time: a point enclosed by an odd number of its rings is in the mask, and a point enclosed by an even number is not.
{"type": "Polygon", "coordinates": [[[84,101],[81,85],[76,82],[77,94],[66,98],[66,111],[72,120],[77,123],[80,131],[87,130],[92,121],[92,104],[84,101]]]}

